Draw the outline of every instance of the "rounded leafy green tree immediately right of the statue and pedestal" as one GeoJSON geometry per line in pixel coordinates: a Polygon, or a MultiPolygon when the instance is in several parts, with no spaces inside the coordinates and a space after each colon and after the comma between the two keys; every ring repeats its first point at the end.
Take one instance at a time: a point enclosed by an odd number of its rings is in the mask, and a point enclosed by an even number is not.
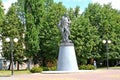
{"type": "Polygon", "coordinates": [[[75,44],[78,64],[87,64],[87,60],[99,57],[97,44],[99,36],[96,27],[84,16],[78,17],[71,25],[71,38],[75,44]]]}

